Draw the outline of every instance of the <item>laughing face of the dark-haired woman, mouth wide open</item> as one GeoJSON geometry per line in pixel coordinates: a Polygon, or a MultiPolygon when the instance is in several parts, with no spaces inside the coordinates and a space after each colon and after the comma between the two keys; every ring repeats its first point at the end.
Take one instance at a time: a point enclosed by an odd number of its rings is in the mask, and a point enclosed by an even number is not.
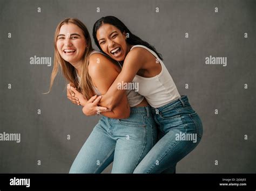
{"type": "Polygon", "coordinates": [[[123,61],[130,51],[125,32],[122,33],[116,26],[103,24],[97,30],[96,36],[100,48],[114,60],[123,61]]]}

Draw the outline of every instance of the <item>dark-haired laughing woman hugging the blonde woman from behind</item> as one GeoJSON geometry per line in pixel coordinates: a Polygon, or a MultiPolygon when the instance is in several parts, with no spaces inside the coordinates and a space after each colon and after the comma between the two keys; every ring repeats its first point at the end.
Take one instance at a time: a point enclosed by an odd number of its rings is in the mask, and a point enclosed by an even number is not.
{"type": "Polygon", "coordinates": [[[176,164],[200,142],[203,125],[187,96],[180,96],[161,55],[150,44],[131,33],[116,17],[102,17],[93,26],[96,45],[123,65],[99,105],[111,109],[125,90],[120,83],[139,83],[139,94],[151,105],[159,125],[160,140],[147,153],[134,173],[175,172],[176,164]]]}

